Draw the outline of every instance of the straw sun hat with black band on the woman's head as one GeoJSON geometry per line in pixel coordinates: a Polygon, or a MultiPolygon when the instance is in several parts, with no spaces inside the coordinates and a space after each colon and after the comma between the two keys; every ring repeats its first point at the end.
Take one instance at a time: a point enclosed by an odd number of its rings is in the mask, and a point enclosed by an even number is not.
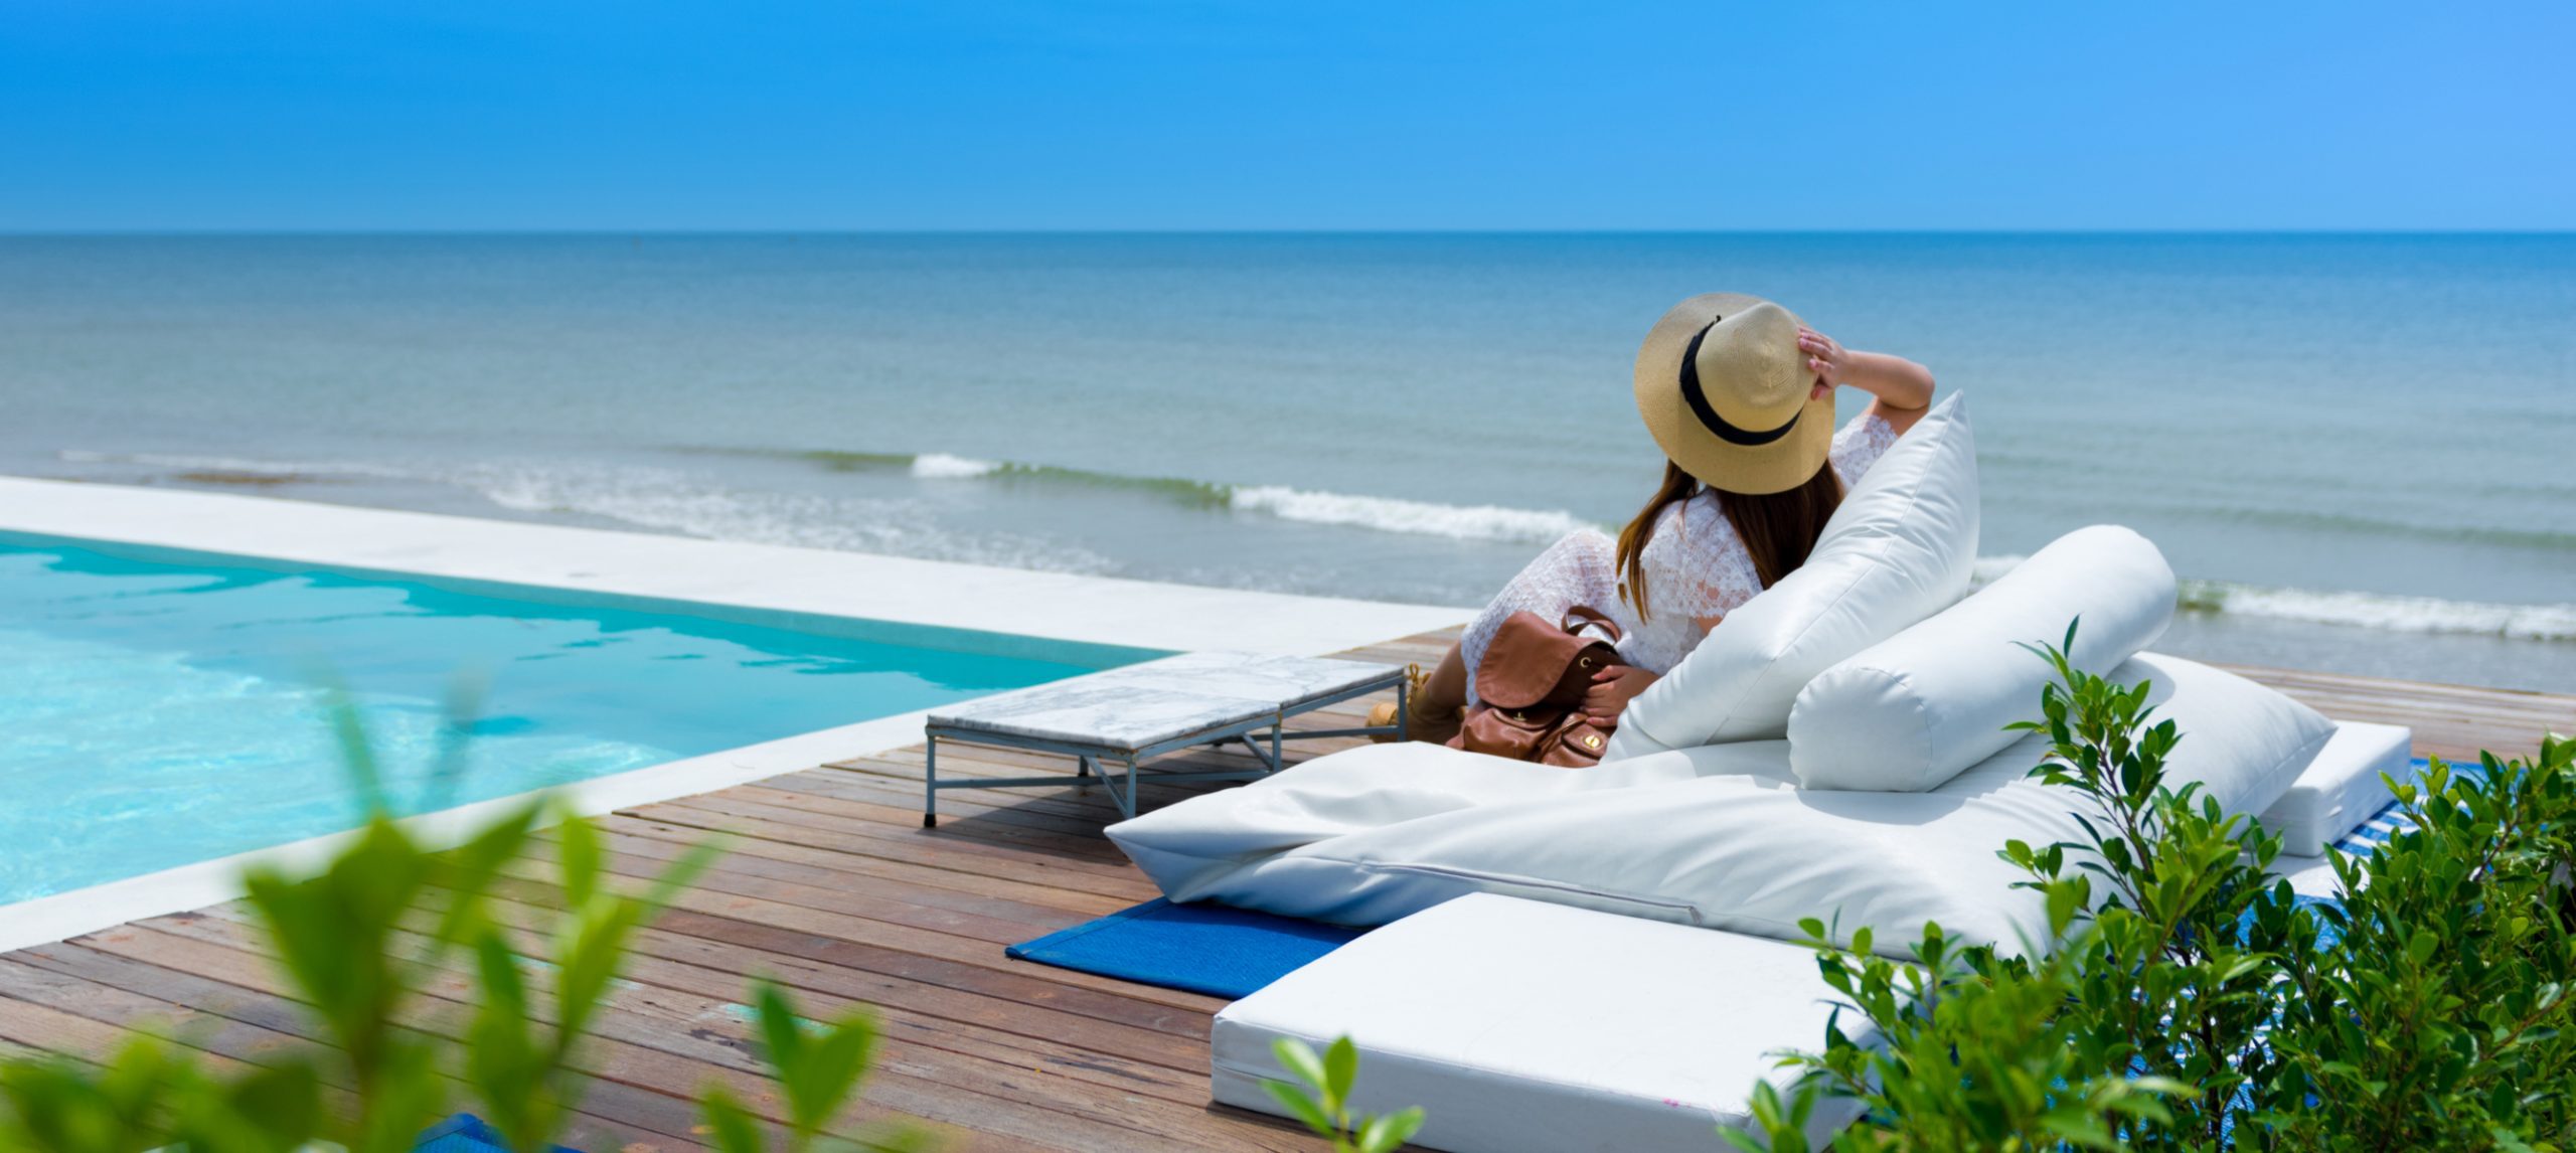
{"type": "Polygon", "coordinates": [[[1749,497],[1788,492],[1834,448],[1834,396],[1816,396],[1798,317],[1759,296],[1674,304],[1636,353],[1636,412],[1672,463],[1749,497]]]}

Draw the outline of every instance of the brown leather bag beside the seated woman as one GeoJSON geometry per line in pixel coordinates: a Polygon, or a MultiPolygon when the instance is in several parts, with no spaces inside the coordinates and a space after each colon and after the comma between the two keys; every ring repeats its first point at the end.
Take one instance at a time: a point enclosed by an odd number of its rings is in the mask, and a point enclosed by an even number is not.
{"type": "Polygon", "coordinates": [[[1481,703],[1450,736],[1450,749],[1566,770],[1600,764],[1618,713],[1654,685],[1651,672],[1620,661],[1618,638],[1618,623],[1582,605],[1558,623],[1512,613],[1476,661],[1481,703]]]}

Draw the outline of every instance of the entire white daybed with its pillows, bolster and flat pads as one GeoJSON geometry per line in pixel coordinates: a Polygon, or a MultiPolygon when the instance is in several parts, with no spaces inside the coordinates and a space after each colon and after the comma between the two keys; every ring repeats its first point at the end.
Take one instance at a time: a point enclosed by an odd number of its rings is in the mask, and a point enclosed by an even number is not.
{"type": "Polygon", "coordinates": [[[1430,1148],[1713,1148],[1767,1053],[1821,1042],[1829,993],[1783,945],[1801,919],[1873,927],[1891,955],[1924,921],[2027,945],[2038,898],[1996,849],[2081,829],[2076,798],[2027,780],[2040,739],[2002,726],[2048,679],[2020,643],[2074,618],[2074,661],[2151,679],[2184,731],[2169,782],[2267,813],[2290,852],[2321,852],[2406,770],[2403,728],[2143,651],[2174,576],[2136,533],[2071,533],[1963,600],[1973,556],[1953,396],[1803,569],[1628,708],[1600,767],[1388,744],[1110,826],[1172,901],[1386,924],[1218,1014],[1216,1096],[1275,1112],[1270,1040],[1347,1032],[1360,1102],[1422,1104],[1430,1148]]]}

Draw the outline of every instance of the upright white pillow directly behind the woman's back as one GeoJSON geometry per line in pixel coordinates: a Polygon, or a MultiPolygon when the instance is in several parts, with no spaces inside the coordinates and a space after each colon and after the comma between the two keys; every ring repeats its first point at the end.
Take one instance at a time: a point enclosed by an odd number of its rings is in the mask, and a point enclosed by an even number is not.
{"type": "Polygon", "coordinates": [[[1780,736],[1811,677],[1968,589],[1976,515],[1976,438],[1950,396],[1860,476],[1798,571],[1628,703],[1605,759],[1780,736]]]}

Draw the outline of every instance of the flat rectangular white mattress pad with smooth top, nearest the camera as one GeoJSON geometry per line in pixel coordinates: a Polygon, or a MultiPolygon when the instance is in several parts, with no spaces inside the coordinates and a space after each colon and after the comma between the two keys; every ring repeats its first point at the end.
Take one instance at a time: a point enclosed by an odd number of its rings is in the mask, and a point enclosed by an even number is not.
{"type": "MultiPolygon", "coordinates": [[[[1816,955],[1795,945],[1463,896],[1218,1011],[1213,1089],[1280,1112],[1262,1091],[1285,1078],[1270,1045],[1321,1053],[1350,1035],[1355,1112],[1419,1104],[1425,1148],[1726,1148],[1716,1127],[1749,1125],[1754,1084],[1790,1086],[1772,1053],[1824,1045],[1829,999],[1816,955]]],[[[1850,1102],[1819,1107],[1808,1143],[1852,1117],[1850,1102]]]]}

